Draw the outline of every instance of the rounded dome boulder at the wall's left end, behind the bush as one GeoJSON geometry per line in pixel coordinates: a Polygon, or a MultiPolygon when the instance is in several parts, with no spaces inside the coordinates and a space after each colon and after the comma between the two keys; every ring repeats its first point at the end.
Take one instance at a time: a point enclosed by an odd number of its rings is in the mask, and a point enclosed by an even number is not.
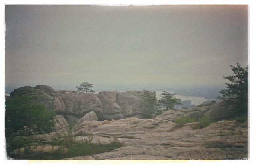
{"type": "Polygon", "coordinates": [[[35,96],[37,99],[33,100],[33,103],[43,104],[48,111],[61,111],[65,109],[64,102],[54,89],[46,85],[37,85],[36,87],[21,87],[14,89],[10,93],[10,97],[16,97],[18,95],[35,96]]]}

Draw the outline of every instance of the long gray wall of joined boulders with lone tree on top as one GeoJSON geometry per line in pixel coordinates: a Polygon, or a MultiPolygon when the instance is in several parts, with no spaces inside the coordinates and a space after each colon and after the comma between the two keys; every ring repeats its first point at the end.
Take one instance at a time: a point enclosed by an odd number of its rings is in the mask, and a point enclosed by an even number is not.
{"type": "MultiPolygon", "coordinates": [[[[155,92],[150,92],[153,96],[155,92]]],[[[48,111],[63,115],[70,127],[87,113],[96,113],[98,121],[142,118],[143,91],[77,93],[76,91],[54,91],[49,86],[21,87],[15,89],[10,97],[18,95],[35,96],[33,103],[46,105],[48,111]]]]}

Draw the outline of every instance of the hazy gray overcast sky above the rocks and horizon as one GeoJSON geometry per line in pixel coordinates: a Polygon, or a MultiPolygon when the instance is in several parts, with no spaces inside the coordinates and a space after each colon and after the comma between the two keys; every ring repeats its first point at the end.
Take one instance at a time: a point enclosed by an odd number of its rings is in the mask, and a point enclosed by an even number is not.
{"type": "Polygon", "coordinates": [[[224,86],[247,65],[247,6],[6,6],[6,89],[224,86]]]}

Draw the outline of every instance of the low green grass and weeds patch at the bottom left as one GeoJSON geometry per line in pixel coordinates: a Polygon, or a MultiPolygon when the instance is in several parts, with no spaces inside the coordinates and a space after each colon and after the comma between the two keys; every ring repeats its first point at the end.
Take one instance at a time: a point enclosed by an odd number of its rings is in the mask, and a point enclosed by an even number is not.
{"type": "Polygon", "coordinates": [[[122,144],[118,142],[117,137],[114,137],[110,144],[101,144],[98,140],[98,143],[93,143],[93,135],[89,134],[88,139],[76,139],[71,132],[64,134],[64,136],[57,135],[53,138],[52,142],[47,144],[52,145],[52,150],[48,152],[42,152],[34,150],[38,145],[43,147],[44,143],[38,144],[40,140],[31,140],[31,138],[26,137],[19,140],[20,137],[14,140],[15,144],[18,143],[18,146],[12,147],[12,150],[15,148],[21,148],[26,146],[23,150],[18,149],[15,152],[9,152],[8,156],[14,159],[20,160],[60,160],[63,158],[72,158],[76,156],[90,156],[92,154],[99,154],[103,152],[109,152],[116,148],[122,147],[122,144]],[[36,143],[35,143],[36,142],[36,143]]]}

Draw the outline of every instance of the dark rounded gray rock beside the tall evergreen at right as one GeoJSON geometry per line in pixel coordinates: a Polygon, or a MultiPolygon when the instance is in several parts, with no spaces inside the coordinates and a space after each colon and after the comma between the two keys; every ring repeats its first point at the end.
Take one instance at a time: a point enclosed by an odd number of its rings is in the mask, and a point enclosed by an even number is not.
{"type": "Polygon", "coordinates": [[[233,108],[228,106],[224,101],[220,101],[213,104],[210,110],[204,113],[204,115],[211,117],[214,121],[220,121],[232,117],[232,109],[233,108]]]}

